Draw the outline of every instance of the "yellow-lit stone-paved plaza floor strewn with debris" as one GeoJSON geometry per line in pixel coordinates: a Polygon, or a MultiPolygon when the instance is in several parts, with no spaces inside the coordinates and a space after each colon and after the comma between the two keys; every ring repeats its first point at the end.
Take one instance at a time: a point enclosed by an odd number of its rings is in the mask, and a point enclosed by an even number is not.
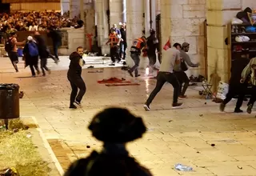
{"type": "MultiPolygon", "coordinates": [[[[166,84],[154,99],[152,110],[146,112],[142,105],[155,81],[130,78],[120,68],[103,68],[103,73],[96,74],[83,70],[87,92],[82,107],[70,110],[66,58],[58,66],[49,60],[53,71],[46,78],[30,78],[29,68],[22,70],[22,63],[21,72],[13,73],[8,58],[0,59],[0,82],[21,86],[25,92],[20,102],[22,117],[37,119],[64,170],[74,159],[101,149],[101,142],[87,130],[93,115],[106,106],[122,106],[146,122],[148,132],[128,148],[154,175],[256,175],[256,119],[254,114],[233,114],[234,102],[227,106],[226,113],[220,113],[218,104],[202,99],[198,90],[190,88],[183,108],[172,110],[172,86],[166,84]],[[126,78],[141,85],[108,87],[97,83],[110,77],[126,78]],[[194,171],[176,171],[176,163],[192,166],[194,171]]],[[[246,106],[242,109],[246,110],[246,106]]]]}

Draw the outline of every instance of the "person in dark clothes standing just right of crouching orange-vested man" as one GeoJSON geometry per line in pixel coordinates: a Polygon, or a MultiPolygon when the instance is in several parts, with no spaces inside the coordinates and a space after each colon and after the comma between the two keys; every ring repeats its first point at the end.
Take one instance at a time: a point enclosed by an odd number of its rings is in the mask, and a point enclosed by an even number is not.
{"type": "Polygon", "coordinates": [[[155,31],[153,29],[150,30],[150,37],[146,38],[146,45],[147,45],[147,56],[150,60],[150,74],[153,73],[154,64],[157,62],[157,54],[155,50],[159,52],[159,42],[158,38],[155,36],[155,31]]]}

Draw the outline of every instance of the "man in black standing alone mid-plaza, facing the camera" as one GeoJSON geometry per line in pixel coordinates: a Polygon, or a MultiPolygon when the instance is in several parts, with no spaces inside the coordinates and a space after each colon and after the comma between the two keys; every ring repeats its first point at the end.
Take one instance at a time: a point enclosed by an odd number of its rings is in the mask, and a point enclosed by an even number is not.
{"type": "Polygon", "coordinates": [[[85,65],[85,61],[82,59],[82,54],[82,46],[79,46],[76,52],[70,54],[70,68],[67,72],[67,78],[70,81],[72,88],[70,94],[70,108],[72,109],[77,108],[77,106],[74,105],[74,102],[80,105],[83,95],[86,94],[86,84],[81,77],[82,66],[85,65]]]}

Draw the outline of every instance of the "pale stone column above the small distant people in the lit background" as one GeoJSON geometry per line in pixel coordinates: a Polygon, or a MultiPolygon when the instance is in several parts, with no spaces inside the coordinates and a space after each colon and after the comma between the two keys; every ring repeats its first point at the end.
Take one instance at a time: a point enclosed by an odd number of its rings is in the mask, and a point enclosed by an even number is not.
{"type": "MultiPolygon", "coordinates": [[[[129,2],[129,0],[128,0],[129,2]]],[[[110,2],[110,26],[122,22],[122,0],[111,0],[110,2]]]]}

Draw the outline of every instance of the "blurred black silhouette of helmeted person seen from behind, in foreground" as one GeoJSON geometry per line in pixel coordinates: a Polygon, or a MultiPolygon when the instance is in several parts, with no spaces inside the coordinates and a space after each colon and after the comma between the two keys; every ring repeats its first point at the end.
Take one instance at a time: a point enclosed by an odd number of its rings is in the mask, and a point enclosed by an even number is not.
{"type": "Polygon", "coordinates": [[[73,162],[64,176],[152,176],[149,170],[129,156],[126,143],[142,138],[146,126],[129,110],[111,107],[96,114],[89,130],[103,142],[100,153],[73,162]]]}

